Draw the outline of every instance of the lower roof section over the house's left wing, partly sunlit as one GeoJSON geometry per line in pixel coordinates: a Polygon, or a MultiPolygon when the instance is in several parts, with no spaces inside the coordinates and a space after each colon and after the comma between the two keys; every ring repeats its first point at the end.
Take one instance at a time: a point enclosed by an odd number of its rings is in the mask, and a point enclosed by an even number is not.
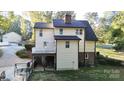
{"type": "Polygon", "coordinates": [[[48,24],[45,22],[36,22],[34,28],[41,29],[41,28],[53,28],[53,24],[48,24]]]}

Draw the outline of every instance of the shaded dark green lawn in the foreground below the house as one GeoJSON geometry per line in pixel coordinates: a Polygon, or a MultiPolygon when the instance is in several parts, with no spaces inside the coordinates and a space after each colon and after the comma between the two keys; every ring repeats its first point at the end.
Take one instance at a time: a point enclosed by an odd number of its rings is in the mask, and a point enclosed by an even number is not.
{"type": "Polygon", "coordinates": [[[124,80],[124,67],[98,65],[82,67],[77,71],[33,72],[30,81],[119,81],[124,80]]]}

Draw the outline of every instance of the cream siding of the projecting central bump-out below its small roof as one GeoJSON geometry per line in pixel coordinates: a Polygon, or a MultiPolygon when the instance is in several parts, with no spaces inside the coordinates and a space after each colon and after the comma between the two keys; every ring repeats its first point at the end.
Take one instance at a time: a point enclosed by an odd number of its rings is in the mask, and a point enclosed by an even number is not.
{"type": "Polygon", "coordinates": [[[65,48],[66,40],[57,40],[57,70],[78,69],[78,41],[71,40],[65,48]]]}

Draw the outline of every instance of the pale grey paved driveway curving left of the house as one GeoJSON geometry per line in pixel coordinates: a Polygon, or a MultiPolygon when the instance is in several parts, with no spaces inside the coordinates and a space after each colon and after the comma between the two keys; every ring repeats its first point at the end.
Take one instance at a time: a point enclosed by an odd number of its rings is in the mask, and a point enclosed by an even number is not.
{"type": "Polygon", "coordinates": [[[16,44],[11,44],[10,46],[2,46],[0,49],[3,51],[3,56],[0,58],[0,67],[14,66],[15,63],[26,63],[30,59],[21,59],[16,56],[16,52],[24,47],[18,46],[16,44]]]}

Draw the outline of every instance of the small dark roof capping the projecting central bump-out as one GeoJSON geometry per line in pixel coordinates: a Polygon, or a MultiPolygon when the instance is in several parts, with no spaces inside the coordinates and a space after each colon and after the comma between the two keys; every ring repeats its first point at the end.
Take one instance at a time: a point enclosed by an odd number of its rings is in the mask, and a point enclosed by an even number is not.
{"type": "Polygon", "coordinates": [[[77,36],[60,36],[60,35],[55,35],[54,38],[55,38],[55,40],[81,40],[77,36]]]}

